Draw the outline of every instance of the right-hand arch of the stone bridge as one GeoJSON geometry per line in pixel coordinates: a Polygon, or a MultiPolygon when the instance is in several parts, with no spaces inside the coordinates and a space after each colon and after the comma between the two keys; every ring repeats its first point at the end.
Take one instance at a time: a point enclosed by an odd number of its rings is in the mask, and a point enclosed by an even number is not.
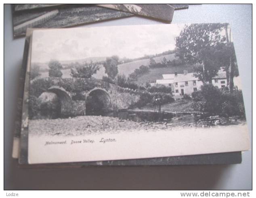
{"type": "Polygon", "coordinates": [[[104,115],[111,110],[111,98],[103,88],[94,88],[86,94],[86,115],[104,115]]]}

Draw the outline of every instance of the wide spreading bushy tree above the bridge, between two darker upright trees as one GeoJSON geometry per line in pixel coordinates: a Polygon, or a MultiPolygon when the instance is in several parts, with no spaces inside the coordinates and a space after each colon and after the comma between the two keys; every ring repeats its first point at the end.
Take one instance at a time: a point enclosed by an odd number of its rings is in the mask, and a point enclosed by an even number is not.
{"type": "Polygon", "coordinates": [[[71,68],[71,76],[74,78],[90,78],[100,69],[99,63],[76,63],[76,66],[71,68]]]}

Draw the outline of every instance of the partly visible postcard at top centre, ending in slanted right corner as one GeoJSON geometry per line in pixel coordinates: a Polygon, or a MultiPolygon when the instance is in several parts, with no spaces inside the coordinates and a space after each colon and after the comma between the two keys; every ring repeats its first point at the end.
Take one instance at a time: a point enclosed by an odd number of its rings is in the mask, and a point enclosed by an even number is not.
{"type": "MultiPolygon", "coordinates": [[[[159,19],[170,23],[172,21],[174,6],[171,4],[97,4],[105,8],[120,10],[135,15],[159,19]]],[[[177,8],[185,8],[185,4],[176,4],[177,8]],[[178,6],[180,5],[180,6],[178,6]],[[183,5],[183,6],[181,6],[183,5]]]]}

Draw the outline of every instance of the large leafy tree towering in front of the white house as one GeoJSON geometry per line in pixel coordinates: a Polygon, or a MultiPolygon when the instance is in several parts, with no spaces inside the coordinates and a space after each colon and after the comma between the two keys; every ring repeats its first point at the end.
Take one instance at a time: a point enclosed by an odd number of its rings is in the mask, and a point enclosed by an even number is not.
{"type": "Polygon", "coordinates": [[[195,71],[195,77],[201,76],[203,82],[212,83],[220,69],[216,59],[218,49],[225,43],[226,38],[221,32],[225,24],[191,24],[186,25],[176,38],[176,56],[190,64],[200,64],[195,71]]]}

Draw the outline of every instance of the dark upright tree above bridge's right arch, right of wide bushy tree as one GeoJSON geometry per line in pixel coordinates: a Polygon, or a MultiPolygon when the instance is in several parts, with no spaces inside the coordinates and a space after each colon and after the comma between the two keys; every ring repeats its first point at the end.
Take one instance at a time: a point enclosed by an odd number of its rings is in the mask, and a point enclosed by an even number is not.
{"type": "Polygon", "coordinates": [[[118,56],[111,56],[103,63],[105,73],[112,79],[115,79],[115,76],[118,74],[118,60],[118,56]]]}

